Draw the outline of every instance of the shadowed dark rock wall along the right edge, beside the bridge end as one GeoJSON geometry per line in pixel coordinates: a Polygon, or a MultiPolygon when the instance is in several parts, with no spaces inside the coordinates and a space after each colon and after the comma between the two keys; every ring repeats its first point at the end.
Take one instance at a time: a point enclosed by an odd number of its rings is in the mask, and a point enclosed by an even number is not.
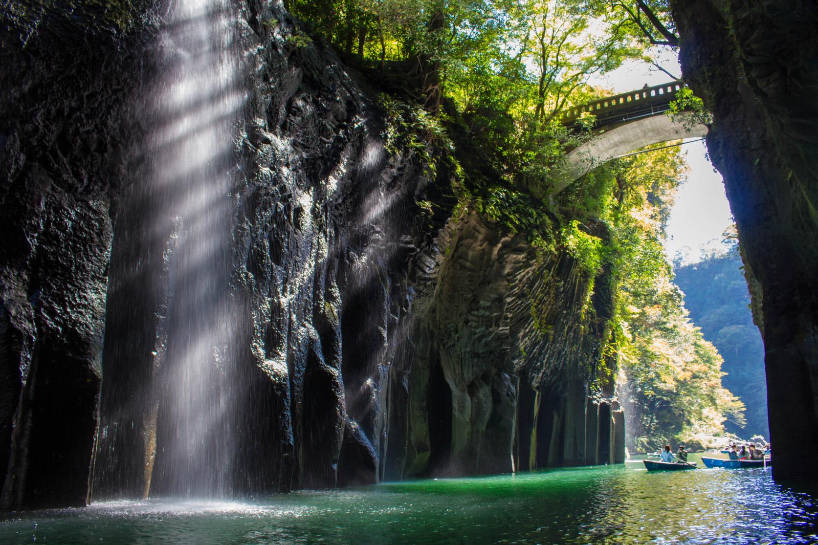
{"type": "Polygon", "coordinates": [[[766,352],[774,475],[818,480],[818,6],[672,2],[685,80],[713,112],[708,151],[725,178],[766,352]]]}

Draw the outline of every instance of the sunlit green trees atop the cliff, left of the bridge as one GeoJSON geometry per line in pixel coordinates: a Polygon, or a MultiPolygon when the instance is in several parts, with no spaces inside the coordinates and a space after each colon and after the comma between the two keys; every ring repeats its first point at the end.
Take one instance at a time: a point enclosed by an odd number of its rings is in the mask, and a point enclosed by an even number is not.
{"type": "Polygon", "coordinates": [[[290,1],[339,51],[430,111],[450,99],[499,174],[518,182],[542,178],[562,157],[569,138],[560,114],[596,97],[588,79],[644,53],[588,8],[584,0],[290,1]]]}

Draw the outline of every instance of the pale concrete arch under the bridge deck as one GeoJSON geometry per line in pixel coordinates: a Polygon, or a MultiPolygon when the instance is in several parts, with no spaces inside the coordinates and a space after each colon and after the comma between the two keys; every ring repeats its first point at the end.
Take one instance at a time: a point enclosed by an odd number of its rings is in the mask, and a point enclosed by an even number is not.
{"type": "Polygon", "coordinates": [[[600,164],[631,151],[660,142],[703,137],[708,133],[707,126],[685,121],[684,117],[674,120],[669,115],[652,115],[608,128],[568,154],[567,173],[557,184],[556,191],[562,191],[600,164]]]}

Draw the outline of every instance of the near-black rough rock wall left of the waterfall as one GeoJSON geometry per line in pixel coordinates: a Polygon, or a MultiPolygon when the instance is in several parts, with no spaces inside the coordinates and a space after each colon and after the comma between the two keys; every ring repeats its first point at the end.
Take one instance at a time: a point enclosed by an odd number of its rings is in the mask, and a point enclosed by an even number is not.
{"type": "Polygon", "coordinates": [[[43,22],[25,50],[25,28],[4,20],[0,31],[2,507],[88,496],[111,218],[140,50],[92,25],[74,30],[43,22]]]}

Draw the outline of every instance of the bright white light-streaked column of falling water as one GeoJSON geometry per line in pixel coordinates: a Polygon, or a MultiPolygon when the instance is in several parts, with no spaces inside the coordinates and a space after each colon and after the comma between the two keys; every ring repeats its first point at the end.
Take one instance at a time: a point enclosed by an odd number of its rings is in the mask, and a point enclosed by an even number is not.
{"type": "MultiPolygon", "coordinates": [[[[161,367],[151,494],[229,496],[236,434],[231,309],[231,165],[244,100],[227,0],[176,0],[160,40],[162,73],[146,115],[155,240],[164,241],[161,367]]],[[[152,470],[152,471],[151,471],[152,470]]]]}

